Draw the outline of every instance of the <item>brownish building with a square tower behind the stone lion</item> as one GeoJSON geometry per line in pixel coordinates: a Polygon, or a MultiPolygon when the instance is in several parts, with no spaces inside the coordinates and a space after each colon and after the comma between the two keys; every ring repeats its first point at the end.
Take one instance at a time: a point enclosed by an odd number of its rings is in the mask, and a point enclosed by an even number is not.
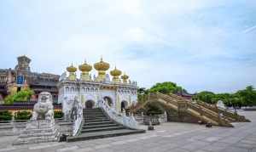
{"type": "Polygon", "coordinates": [[[41,92],[52,93],[54,101],[58,99],[58,75],[36,73],[30,70],[31,59],[20,56],[15,69],[0,69],[0,100],[8,94],[19,92],[22,87],[30,87],[35,92],[32,100],[38,99],[41,92]]]}

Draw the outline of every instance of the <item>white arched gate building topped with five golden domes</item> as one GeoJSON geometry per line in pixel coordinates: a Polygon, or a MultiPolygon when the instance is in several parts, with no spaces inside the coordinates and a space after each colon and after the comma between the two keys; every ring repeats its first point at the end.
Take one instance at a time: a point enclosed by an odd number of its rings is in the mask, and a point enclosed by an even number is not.
{"type": "Polygon", "coordinates": [[[116,111],[121,111],[137,103],[137,82],[131,82],[129,76],[123,74],[116,67],[110,71],[107,70],[110,65],[102,59],[94,64],[97,70],[97,76],[91,76],[92,66],[86,62],[74,67],[67,67],[68,76],[62,74],[59,87],[59,103],[62,103],[62,110],[68,113],[73,107],[75,98],[79,98],[83,108],[97,107],[99,102],[104,100],[116,111]],[[80,76],[77,78],[77,70],[80,70],[80,76]],[[121,76],[122,75],[122,76],[121,76]]]}

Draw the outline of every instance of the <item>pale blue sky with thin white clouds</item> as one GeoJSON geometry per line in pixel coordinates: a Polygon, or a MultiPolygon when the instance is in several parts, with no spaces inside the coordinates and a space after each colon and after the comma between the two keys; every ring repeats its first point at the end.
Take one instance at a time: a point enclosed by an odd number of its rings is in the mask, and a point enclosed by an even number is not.
{"type": "Polygon", "coordinates": [[[3,69],[26,55],[32,71],[61,75],[102,56],[139,87],[232,93],[256,87],[255,40],[255,0],[0,1],[3,69]]]}

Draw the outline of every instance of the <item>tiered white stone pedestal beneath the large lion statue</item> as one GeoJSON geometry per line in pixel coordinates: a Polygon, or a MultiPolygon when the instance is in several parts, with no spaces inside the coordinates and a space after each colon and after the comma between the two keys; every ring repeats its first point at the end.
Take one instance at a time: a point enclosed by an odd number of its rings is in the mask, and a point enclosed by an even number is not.
{"type": "Polygon", "coordinates": [[[59,134],[55,120],[28,121],[26,129],[20,134],[14,145],[55,142],[58,141],[59,134]]]}

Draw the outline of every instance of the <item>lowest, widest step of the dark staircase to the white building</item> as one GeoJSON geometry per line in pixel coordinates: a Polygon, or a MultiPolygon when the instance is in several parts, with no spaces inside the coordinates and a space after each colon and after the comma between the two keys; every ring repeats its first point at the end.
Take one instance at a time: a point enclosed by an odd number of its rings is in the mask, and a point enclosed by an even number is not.
{"type": "Polygon", "coordinates": [[[124,136],[134,133],[143,133],[145,130],[131,130],[131,129],[119,129],[119,130],[112,130],[112,131],[102,131],[102,132],[87,132],[82,133],[80,136],[75,137],[68,137],[67,142],[76,142],[82,140],[90,140],[96,138],[109,138],[115,136],[124,136]]]}

